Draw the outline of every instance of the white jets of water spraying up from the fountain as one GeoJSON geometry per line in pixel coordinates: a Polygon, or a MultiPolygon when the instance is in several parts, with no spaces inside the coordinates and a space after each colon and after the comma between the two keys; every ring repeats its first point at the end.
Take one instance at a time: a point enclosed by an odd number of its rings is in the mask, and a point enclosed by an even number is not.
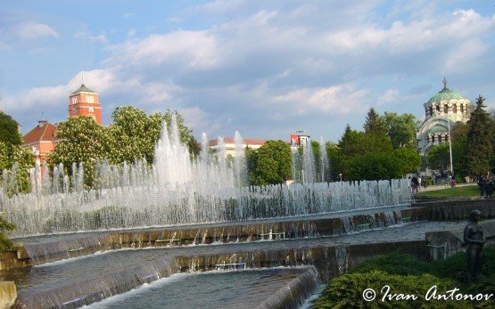
{"type": "MultiPolygon", "coordinates": [[[[103,161],[96,167],[98,186],[91,190],[83,188],[81,165],[72,166],[71,182],[62,166],[42,178],[37,167],[30,193],[10,197],[6,187],[0,191],[4,216],[17,225],[11,236],[243,221],[410,201],[408,182],[402,180],[316,183],[314,158],[303,160],[313,171],[308,172],[311,181],[245,186],[241,135],[235,133],[234,162],[227,162],[222,145],[218,156],[210,156],[207,141],[202,134],[202,153],[192,159],[173,118],[170,128],[163,128],[152,166],[145,161],[131,166],[103,161]]],[[[312,156],[309,149],[303,157],[312,156]]],[[[4,183],[15,183],[12,175],[15,171],[4,173],[4,183]]]]}

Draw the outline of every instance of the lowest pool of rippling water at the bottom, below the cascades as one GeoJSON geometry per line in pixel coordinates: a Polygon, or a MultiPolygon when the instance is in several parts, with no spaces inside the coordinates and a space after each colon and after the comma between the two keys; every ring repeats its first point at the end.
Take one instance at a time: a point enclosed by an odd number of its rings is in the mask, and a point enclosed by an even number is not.
{"type": "Polygon", "coordinates": [[[305,271],[271,268],[177,273],[87,308],[255,308],[305,271]]]}

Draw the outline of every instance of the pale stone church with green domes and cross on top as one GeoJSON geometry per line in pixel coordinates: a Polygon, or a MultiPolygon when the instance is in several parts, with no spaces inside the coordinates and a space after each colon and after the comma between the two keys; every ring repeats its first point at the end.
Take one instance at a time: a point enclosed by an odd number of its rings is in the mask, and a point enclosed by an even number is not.
{"type": "Polygon", "coordinates": [[[417,150],[425,156],[433,145],[449,142],[450,128],[458,121],[467,122],[470,102],[462,94],[447,88],[443,78],[443,89],[425,102],[425,121],[417,132],[417,150]]]}

